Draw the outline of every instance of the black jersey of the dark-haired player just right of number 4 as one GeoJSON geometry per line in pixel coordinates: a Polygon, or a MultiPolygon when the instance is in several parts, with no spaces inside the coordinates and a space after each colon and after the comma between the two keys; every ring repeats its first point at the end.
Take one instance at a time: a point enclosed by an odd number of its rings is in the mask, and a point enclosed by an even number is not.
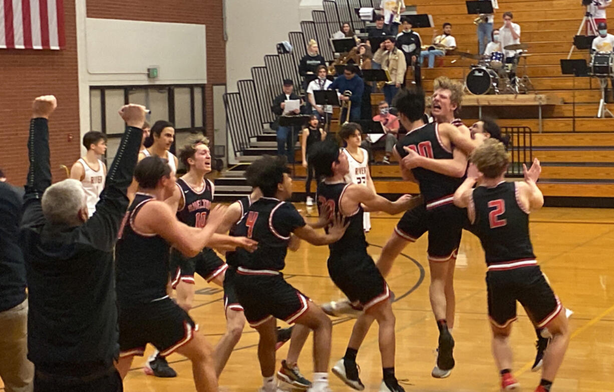
{"type": "MultiPolygon", "coordinates": [[[[317,185],[317,206],[321,210],[322,205],[327,204],[331,210],[335,213],[339,212],[339,204],[341,202],[341,196],[351,183],[334,183],[328,184],[321,182],[317,185]]],[[[345,213],[350,213],[345,211],[345,213]]],[[[328,245],[331,255],[341,255],[353,251],[364,251],[367,249],[367,239],[365,239],[365,230],[362,225],[363,210],[361,206],[358,206],[356,211],[353,211],[351,215],[345,215],[346,220],[349,220],[349,226],[346,229],[343,237],[340,240],[328,245]]]]}

